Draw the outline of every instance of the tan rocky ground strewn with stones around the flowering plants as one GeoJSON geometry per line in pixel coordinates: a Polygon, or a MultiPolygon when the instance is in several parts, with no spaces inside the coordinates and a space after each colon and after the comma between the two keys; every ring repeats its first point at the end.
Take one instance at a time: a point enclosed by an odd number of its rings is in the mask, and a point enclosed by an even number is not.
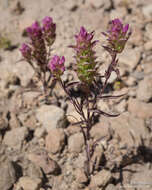
{"type": "MultiPolygon", "coordinates": [[[[66,72],[64,80],[73,77],[66,72]]],[[[151,132],[152,0],[0,1],[0,190],[152,189],[151,132]],[[28,40],[24,29],[45,16],[57,23],[52,53],[64,55],[67,67],[74,61],[67,46],[74,44],[80,26],[95,30],[101,73],[110,60],[101,47],[109,20],[120,18],[133,31],[119,56],[122,80],[112,75],[108,90],[127,95],[98,102],[101,109],[121,115],[101,117],[91,131],[94,140],[106,137],[95,150],[97,170],[90,184],[83,171],[82,134],[66,118],[69,113],[77,117],[73,107],[58,86],[54,104],[44,104],[30,89],[32,68],[19,61],[18,48],[28,40]]]]}

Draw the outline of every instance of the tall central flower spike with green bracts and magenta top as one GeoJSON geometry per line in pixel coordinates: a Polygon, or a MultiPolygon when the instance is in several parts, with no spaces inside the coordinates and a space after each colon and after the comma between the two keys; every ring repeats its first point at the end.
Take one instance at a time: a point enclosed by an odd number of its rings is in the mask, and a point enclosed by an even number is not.
{"type": "Polygon", "coordinates": [[[91,84],[96,75],[96,56],[93,50],[97,41],[92,41],[94,32],[88,33],[84,27],[75,35],[76,45],[70,46],[76,51],[77,75],[81,82],[91,84]]]}

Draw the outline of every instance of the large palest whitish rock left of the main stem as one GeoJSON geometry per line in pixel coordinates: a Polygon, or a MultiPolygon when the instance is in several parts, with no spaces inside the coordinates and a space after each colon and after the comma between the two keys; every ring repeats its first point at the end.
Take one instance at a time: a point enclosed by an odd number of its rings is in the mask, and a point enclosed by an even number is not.
{"type": "Polygon", "coordinates": [[[67,124],[64,111],[53,105],[42,105],[38,108],[36,118],[47,132],[55,128],[64,128],[67,124]]]}

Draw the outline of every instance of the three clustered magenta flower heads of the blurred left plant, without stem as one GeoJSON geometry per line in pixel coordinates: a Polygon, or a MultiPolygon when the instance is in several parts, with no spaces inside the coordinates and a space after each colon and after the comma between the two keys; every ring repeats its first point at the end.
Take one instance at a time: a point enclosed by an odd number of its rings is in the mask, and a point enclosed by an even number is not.
{"type": "Polygon", "coordinates": [[[47,46],[51,46],[56,37],[56,24],[53,23],[51,17],[45,17],[42,20],[42,27],[39,22],[35,21],[30,27],[26,29],[27,35],[30,39],[28,44],[22,44],[20,51],[23,57],[28,61],[35,61],[41,70],[46,71],[48,52],[47,46]]]}

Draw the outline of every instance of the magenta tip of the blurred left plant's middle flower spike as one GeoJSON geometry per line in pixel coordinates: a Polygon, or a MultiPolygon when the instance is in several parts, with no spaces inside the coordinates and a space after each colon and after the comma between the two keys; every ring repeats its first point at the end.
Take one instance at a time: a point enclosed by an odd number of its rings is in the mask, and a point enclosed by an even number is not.
{"type": "Polygon", "coordinates": [[[42,37],[42,29],[37,21],[34,22],[32,26],[28,27],[26,32],[32,40],[42,37]]]}

